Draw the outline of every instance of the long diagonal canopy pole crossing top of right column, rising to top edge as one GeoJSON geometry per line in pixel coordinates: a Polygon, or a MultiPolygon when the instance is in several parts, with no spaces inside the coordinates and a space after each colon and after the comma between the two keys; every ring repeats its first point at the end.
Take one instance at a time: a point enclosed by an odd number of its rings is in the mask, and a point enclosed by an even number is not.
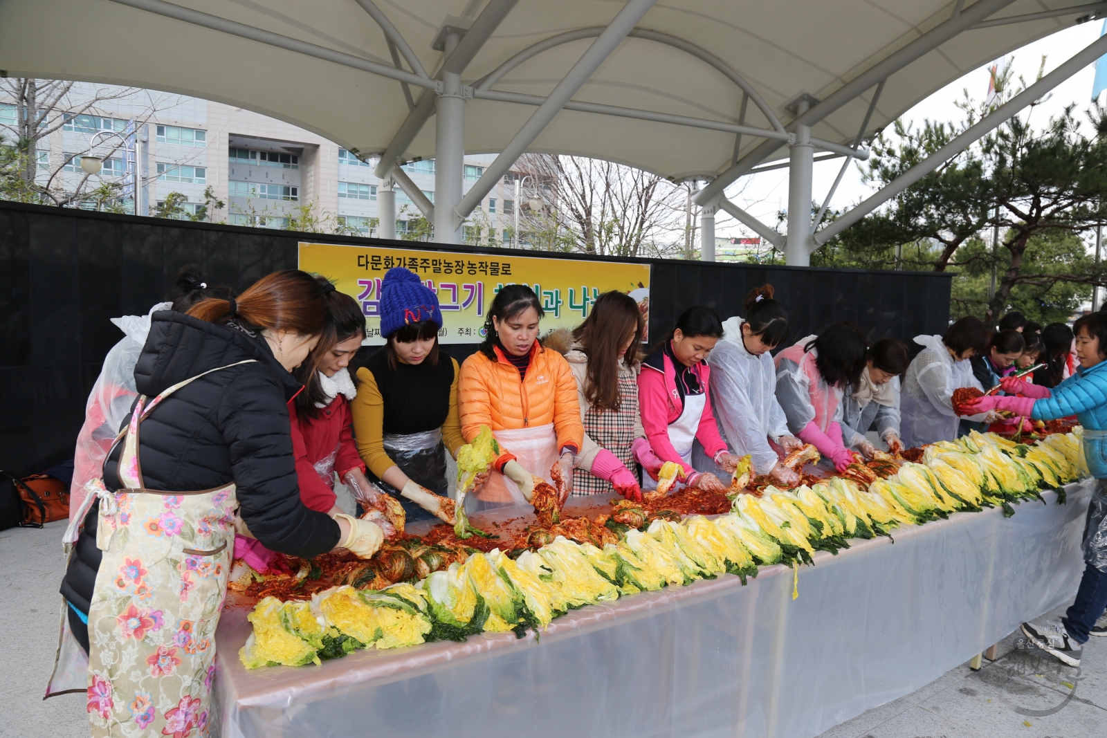
{"type": "MultiPolygon", "coordinates": [[[[818,105],[815,105],[801,116],[797,116],[796,119],[785,126],[785,128],[794,132],[800,125],[811,126],[818,123],[849,101],[863,93],[866,90],[872,87],[872,85],[877,84],[881,80],[887,80],[889,76],[899,72],[908,64],[921,59],[950,39],[960,34],[962,31],[973,27],[977,22],[992,15],[1006,6],[1010,6],[1012,2],[1014,2],[1014,0],[976,0],[976,2],[968,9],[962,10],[955,18],[951,18],[950,20],[934,27],[930,31],[927,31],[914,41],[908,43],[906,46],[880,62],[877,62],[861,74],[857,75],[841,87],[827,95],[827,97],[818,105]]],[[[764,162],[767,156],[773,154],[779,147],[780,144],[776,141],[769,139],[762,142],[761,145],[755,146],[734,166],[718,175],[714,181],[700,190],[700,194],[694,198],[695,201],[697,204],[703,204],[722,195],[723,190],[725,190],[726,187],[730,186],[735,179],[764,162]]]]}

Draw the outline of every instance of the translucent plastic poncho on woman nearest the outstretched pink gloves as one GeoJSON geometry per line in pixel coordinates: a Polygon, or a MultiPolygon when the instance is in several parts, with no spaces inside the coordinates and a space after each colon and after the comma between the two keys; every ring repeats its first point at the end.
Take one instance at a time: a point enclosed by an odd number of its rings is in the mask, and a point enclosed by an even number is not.
{"type": "MultiPolygon", "coordinates": [[[[925,349],[914,357],[903,377],[900,395],[902,420],[900,438],[906,448],[938,440],[953,440],[961,418],[953,412],[953,391],[983,387],[972,373],[972,363],[954,361],[940,335],[917,335],[914,342],[925,349]]],[[[983,420],[984,414],[970,420],[983,420]]]]}

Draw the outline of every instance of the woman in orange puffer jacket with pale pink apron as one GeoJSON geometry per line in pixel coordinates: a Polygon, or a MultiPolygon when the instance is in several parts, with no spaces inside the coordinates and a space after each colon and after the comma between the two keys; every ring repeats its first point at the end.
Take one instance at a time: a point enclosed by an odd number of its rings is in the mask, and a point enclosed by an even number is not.
{"type": "Polygon", "coordinates": [[[542,314],[534,290],[506,284],[488,308],[480,350],[462,364],[462,435],[470,441],[487,425],[500,446],[499,474],[472,496],[470,511],[529,502],[531,475],[552,481],[555,466],[565,493],[572,488],[584,436],[577,381],[565,356],[538,342],[542,314]]]}

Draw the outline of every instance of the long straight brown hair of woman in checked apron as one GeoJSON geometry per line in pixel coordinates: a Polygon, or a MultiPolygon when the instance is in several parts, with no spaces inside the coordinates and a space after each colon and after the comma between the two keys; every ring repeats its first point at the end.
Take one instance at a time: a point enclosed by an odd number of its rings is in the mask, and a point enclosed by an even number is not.
{"type": "Polygon", "coordinates": [[[584,398],[597,409],[619,409],[619,350],[627,335],[633,333],[630,349],[623,355],[623,364],[633,366],[644,330],[638,303],[618,291],[601,294],[584,322],[573,330],[573,340],[588,356],[584,398]]]}

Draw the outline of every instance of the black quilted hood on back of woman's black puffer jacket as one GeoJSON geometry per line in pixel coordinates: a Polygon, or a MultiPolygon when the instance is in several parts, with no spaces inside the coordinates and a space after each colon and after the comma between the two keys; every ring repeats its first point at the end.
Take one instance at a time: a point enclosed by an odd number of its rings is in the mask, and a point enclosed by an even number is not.
{"type": "Polygon", "coordinates": [[[255,360],[273,373],[288,402],[302,388],[260,335],[163,310],[151,318],[149,333],[135,365],[135,387],[147,397],[204,372],[255,360]]]}

